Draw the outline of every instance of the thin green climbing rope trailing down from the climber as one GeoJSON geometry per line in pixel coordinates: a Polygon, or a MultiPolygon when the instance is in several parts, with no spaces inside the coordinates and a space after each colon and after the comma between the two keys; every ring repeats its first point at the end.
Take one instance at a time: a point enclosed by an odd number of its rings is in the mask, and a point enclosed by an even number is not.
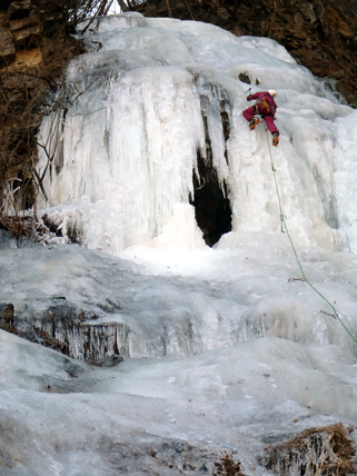
{"type": "Polygon", "coordinates": [[[287,227],[285,217],[284,217],[282,205],[281,205],[280,192],[279,192],[278,180],[277,180],[277,171],[276,171],[276,168],[275,168],[274,161],[272,161],[272,155],[271,155],[271,148],[270,148],[270,142],[269,142],[269,137],[268,137],[267,128],[265,129],[265,131],[266,131],[266,137],[267,137],[267,142],[268,142],[268,149],[269,149],[269,156],[270,156],[270,167],[271,167],[271,170],[272,170],[274,181],[275,181],[275,188],[276,188],[276,192],[277,192],[277,197],[278,197],[278,204],[279,204],[279,210],[280,210],[280,220],[281,220],[281,231],[284,232],[284,230],[285,230],[285,232],[286,232],[286,235],[287,235],[287,237],[288,237],[288,239],[290,241],[290,246],[292,248],[294,256],[296,258],[296,261],[298,264],[298,267],[299,267],[301,276],[303,276],[303,278],[290,278],[288,281],[289,282],[297,281],[297,280],[305,281],[316,294],[318,294],[325,300],[325,303],[328,304],[328,306],[333,310],[333,314],[325,313],[324,310],[321,310],[320,313],[326,314],[327,316],[331,316],[331,317],[334,317],[334,319],[339,320],[339,323],[343,325],[343,327],[346,330],[346,333],[351,337],[351,339],[355,341],[355,344],[357,344],[357,338],[353,335],[353,333],[348,329],[348,327],[345,325],[345,323],[338,316],[338,313],[337,313],[335,306],[318,289],[316,289],[316,287],[309,281],[309,279],[305,275],[304,268],[301,266],[301,261],[300,261],[300,259],[298,257],[298,254],[297,254],[296,248],[294,246],[292,238],[290,236],[289,229],[287,227]]]}

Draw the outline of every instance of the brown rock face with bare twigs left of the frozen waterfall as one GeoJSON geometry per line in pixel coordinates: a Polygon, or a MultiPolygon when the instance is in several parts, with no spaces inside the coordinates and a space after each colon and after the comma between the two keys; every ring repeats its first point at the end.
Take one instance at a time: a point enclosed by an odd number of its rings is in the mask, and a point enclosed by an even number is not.
{"type": "Polygon", "coordinates": [[[63,67],[80,51],[68,32],[66,1],[0,2],[1,199],[4,188],[20,188],[19,206],[32,205],[31,166],[46,96],[57,89],[63,67]]]}

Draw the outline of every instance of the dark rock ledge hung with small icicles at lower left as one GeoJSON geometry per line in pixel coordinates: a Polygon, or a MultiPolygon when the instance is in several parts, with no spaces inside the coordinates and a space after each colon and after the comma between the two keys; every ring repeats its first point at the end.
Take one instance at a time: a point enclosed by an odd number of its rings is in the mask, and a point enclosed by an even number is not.
{"type": "Polygon", "coordinates": [[[12,304],[0,303],[0,328],[19,337],[93,365],[112,366],[130,356],[130,329],[96,319],[61,296],[41,314],[18,316],[12,304]]]}

